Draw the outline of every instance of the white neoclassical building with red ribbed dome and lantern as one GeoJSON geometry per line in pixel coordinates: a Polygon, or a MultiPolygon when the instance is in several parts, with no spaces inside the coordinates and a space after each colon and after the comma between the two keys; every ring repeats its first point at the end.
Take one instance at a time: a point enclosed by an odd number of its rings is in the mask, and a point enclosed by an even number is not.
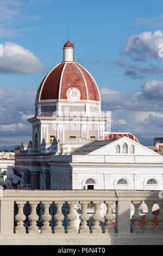
{"type": "Polygon", "coordinates": [[[63,62],[37,90],[33,136],[22,144],[21,188],[163,190],[163,157],[131,133],[110,133],[97,84],[64,45],[63,62]]]}

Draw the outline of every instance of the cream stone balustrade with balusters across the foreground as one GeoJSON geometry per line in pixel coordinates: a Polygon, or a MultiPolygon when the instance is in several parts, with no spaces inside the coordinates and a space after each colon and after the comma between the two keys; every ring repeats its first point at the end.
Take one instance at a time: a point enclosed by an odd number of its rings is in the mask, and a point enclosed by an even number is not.
{"type": "Polygon", "coordinates": [[[1,190],[0,216],[0,245],[163,244],[163,199],[159,191],[1,190]],[[142,202],[147,205],[143,216],[146,227],[140,225],[142,202]],[[153,225],[155,204],[160,208],[158,227],[153,225]],[[105,206],[103,216],[101,205],[105,206]]]}

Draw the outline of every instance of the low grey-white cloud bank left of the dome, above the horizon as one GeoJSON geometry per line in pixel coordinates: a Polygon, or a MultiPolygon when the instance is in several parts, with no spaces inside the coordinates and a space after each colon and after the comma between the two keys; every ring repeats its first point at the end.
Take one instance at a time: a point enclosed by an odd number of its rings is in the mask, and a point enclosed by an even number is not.
{"type": "Polygon", "coordinates": [[[0,147],[26,143],[32,138],[32,125],[27,119],[34,116],[36,89],[0,87],[0,147]]]}

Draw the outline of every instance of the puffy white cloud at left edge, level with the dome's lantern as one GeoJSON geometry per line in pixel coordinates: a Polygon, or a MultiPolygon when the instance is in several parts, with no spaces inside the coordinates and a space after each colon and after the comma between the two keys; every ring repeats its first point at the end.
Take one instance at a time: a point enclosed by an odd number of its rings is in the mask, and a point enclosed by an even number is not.
{"type": "Polygon", "coordinates": [[[34,53],[13,42],[5,42],[0,73],[34,74],[43,71],[45,71],[45,65],[34,53]]]}

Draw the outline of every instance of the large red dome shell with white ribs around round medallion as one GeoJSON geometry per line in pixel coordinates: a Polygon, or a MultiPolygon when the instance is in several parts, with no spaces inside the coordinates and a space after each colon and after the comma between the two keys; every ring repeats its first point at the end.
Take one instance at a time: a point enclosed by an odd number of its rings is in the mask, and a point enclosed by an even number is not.
{"type": "MultiPolygon", "coordinates": [[[[66,43],[67,44],[67,43],[66,43]]],[[[76,88],[80,92],[78,101],[101,102],[97,84],[90,73],[76,62],[62,62],[43,79],[36,101],[67,100],[67,91],[76,88]]]]}

